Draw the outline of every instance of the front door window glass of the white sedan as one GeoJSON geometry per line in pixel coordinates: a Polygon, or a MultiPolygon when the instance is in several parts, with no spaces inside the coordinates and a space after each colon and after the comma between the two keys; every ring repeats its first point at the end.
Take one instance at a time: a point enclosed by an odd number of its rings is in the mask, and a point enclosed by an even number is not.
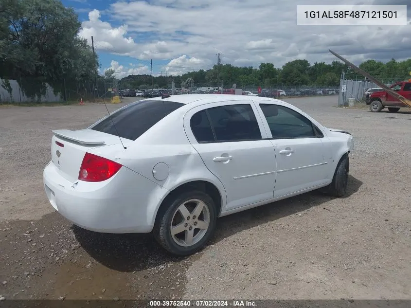
{"type": "Polygon", "coordinates": [[[315,137],[312,123],[302,114],[284,106],[260,104],[275,139],[315,137]]]}

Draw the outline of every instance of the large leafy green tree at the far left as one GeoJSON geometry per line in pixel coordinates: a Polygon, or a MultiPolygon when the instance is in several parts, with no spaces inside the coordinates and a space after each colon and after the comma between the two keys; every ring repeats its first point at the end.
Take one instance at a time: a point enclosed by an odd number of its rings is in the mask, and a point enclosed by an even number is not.
{"type": "Polygon", "coordinates": [[[98,60],[80,29],[74,10],[58,0],[0,0],[0,76],[33,78],[33,89],[23,88],[30,96],[44,88],[37,83],[93,80],[98,60]]]}

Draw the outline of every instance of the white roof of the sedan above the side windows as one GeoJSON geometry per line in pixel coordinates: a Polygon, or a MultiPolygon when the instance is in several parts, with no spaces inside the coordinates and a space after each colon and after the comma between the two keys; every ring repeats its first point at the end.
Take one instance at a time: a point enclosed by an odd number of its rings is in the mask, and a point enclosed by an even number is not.
{"type": "Polygon", "coordinates": [[[164,100],[168,102],[176,102],[181,104],[190,104],[193,107],[200,106],[208,103],[217,103],[217,102],[229,102],[229,101],[252,101],[252,100],[264,100],[269,102],[281,102],[286,103],[274,98],[269,97],[255,97],[247,95],[233,95],[233,94],[183,94],[183,95],[170,95],[167,98],[152,97],[147,98],[150,101],[164,100]]]}

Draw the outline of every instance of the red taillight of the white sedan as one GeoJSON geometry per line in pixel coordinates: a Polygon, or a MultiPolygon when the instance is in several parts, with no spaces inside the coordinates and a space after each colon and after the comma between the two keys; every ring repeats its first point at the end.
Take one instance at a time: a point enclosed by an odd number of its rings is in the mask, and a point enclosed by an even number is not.
{"type": "Polygon", "coordinates": [[[105,181],[115,175],[121,167],[121,164],[107,158],[86,153],[81,163],[78,179],[86,182],[105,181]]]}

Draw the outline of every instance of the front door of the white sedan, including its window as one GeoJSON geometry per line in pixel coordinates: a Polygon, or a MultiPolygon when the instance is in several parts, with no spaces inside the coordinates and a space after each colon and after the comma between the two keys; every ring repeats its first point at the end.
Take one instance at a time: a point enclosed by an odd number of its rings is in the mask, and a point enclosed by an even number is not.
{"type": "Polygon", "coordinates": [[[274,197],[309,189],[329,181],[328,158],[318,127],[296,110],[255,101],[266,120],[276,154],[274,197]]]}

